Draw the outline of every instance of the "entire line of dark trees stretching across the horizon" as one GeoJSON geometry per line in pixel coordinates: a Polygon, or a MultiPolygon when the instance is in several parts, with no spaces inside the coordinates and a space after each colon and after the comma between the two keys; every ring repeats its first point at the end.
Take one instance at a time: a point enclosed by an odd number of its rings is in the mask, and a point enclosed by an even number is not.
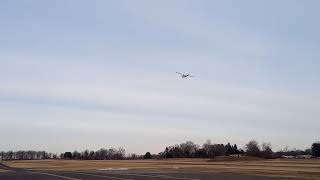
{"type": "Polygon", "coordinates": [[[64,152],[60,155],[46,151],[7,151],[0,152],[1,160],[40,160],[40,159],[75,159],[75,160],[123,160],[123,159],[164,159],[164,158],[214,158],[216,156],[246,155],[261,158],[279,158],[284,156],[310,155],[320,157],[320,142],[315,142],[311,148],[297,150],[284,148],[274,152],[271,143],[249,141],[243,148],[236,144],[217,144],[207,140],[202,146],[192,141],[168,146],[158,154],[147,152],[144,155],[126,154],[124,148],[102,148],[96,151],[84,150],[81,152],[64,152]]]}

